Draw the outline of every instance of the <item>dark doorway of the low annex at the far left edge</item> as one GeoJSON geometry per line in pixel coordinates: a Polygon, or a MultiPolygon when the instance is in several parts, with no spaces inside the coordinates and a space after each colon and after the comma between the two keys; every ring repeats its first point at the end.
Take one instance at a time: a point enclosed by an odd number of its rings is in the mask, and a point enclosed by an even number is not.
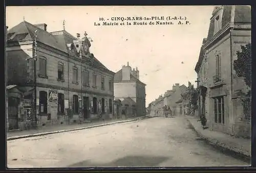
{"type": "Polygon", "coordinates": [[[8,98],[9,130],[18,129],[18,104],[19,104],[19,98],[16,98],[16,97],[8,98]]]}

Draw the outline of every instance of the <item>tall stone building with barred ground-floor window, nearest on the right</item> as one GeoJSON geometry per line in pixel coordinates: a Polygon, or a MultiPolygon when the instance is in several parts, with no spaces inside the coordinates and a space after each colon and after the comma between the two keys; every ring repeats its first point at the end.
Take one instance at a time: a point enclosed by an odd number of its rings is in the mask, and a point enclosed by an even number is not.
{"type": "MultiPolygon", "coordinates": [[[[249,137],[251,114],[243,113],[241,97],[248,87],[233,68],[241,45],[251,42],[249,6],[219,6],[212,12],[208,36],[203,40],[198,73],[199,116],[211,130],[249,137]]],[[[247,107],[250,110],[250,107],[247,107]]]]}

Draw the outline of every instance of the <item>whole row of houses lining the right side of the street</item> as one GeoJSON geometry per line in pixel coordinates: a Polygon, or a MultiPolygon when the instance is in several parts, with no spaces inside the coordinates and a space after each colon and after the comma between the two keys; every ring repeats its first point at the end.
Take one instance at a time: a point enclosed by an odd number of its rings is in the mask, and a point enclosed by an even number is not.
{"type": "Polygon", "coordinates": [[[196,90],[190,84],[190,89],[176,84],[152,102],[148,112],[163,115],[162,108],[167,105],[174,115],[206,118],[209,130],[250,138],[251,86],[246,85],[245,77],[239,77],[234,68],[238,51],[249,43],[250,7],[217,6],[212,12],[208,36],[203,39],[195,67],[198,75],[196,90]]]}

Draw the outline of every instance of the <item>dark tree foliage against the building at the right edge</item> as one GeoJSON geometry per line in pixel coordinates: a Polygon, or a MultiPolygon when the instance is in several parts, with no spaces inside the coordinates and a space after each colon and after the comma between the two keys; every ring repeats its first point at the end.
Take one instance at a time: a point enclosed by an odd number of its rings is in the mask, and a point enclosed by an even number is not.
{"type": "Polygon", "coordinates": [[[237,51],[237,60],[234,60],[234,70],[238,77],[244,77],[248,87],[251,87],[251,43],[241,45],[242,51],[237,51]]]}

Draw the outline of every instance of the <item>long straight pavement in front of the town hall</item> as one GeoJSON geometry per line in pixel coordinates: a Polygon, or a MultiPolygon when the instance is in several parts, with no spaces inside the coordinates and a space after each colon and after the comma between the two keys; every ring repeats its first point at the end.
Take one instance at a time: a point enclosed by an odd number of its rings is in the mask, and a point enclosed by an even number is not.
{"type": "Polygon", "coordinates": [[[134,117],[134,118],[127,118],[127,119],[108,119],[108,120],[98,120],[94,122],[86,122],[82,124],[71,124],[71,125],[56,125],[56,126],[48,126],[48,127],[41,127],[39,129],[31,129],[31,130],[24,130],[24,131],[10,131],[7,132],[7,140],[13,140],[18,138],[25,138],[31,136],[40,136],[46,134],[53,134],[53,133],[61,133],[67,131],[74,131],[74,130],[82,130],[92,127],[98,126],[105,126],[111,125],[114,123],[121,123],[121,122],[129,122],[138,119],[145,119],[149,117],[134,117]]]}

